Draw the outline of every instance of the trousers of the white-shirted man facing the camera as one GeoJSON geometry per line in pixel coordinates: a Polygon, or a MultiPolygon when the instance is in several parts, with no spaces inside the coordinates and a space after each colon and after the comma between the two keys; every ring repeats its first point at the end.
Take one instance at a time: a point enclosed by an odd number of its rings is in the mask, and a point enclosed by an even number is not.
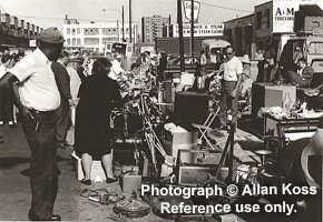
{"type": "Polygon", "coordinates": [[[221,100],[219,100],[219,122],[221,128],[226,127],[227,110],[232,111],[232,122],[237,123],[238,94],[231,97],[232,91],[236,85],[236,81],[222,81],[221,100]]]}

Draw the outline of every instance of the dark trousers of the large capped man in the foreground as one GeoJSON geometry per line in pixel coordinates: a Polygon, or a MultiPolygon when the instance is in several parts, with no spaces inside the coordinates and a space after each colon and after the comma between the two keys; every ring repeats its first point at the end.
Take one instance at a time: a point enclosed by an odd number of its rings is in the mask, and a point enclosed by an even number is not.
{"type": "Polygon", "coordinates": [[[32,220],[49,220],[58,188],[56,165],[56,122],[55,114],[32,113],[35,119],[26,120],[22,129],[31,151],[30,186],[32,220]]]}

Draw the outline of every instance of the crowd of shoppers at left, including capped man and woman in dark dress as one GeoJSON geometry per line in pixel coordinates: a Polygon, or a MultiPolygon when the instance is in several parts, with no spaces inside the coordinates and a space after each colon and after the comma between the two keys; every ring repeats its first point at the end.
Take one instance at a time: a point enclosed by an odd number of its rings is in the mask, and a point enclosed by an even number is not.
{"type": "Polygon", "coordinates": [[[81,158],[81,183],[91,183],[92,160],[101,160],[107,183],[117,181],[110,112],[124,105],[138,80],[156,80],[149,73],[151,60],[146,56],[127,71],[121,68],[120,53],[108,53],[106,58],[70,54],[62,50],[63,41],[57,28],[48,28],[40,32],[37,49],[26,57],[22,49],[14,54],[8,48],[0,51],[0,127],[4,121],[16,124],[14,104],[31,151],[29,220],[61,220],[53,214],[58,148],[72,148],[81,158]],[[70,131],[75,131],[74,141],[67,141],[70,131]]]}

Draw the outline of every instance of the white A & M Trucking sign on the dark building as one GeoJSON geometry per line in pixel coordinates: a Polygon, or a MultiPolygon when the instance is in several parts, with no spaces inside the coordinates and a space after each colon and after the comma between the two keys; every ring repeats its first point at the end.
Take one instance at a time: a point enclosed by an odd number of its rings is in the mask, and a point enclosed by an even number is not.
{"type": "Polygon", "coordinates": [[[273,1],[273,32],[294,32],[295,12],[300,4],[317,4],[323,9],[322,1],[273,1]]]}

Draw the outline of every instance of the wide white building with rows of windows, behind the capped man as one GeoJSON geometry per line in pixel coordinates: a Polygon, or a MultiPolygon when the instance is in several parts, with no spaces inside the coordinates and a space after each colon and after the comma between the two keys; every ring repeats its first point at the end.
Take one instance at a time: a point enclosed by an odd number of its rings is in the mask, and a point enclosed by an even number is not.
{"type": "MultiPolygon", "coordinates": [[[[137,26],[133,24],[131,39],[136,40],[137,26]]],[[[79,23],[76,20],[65,21],[62,27],[62,34],[66,39],[67,49],[88,50],[97,53],[102,53],[105,43],[129,42],[129,24],[125,24],[123,32],[123,24],[120,23],[79,23]],[[123,37],[125,33],[125,37],[123,37]]]]}

